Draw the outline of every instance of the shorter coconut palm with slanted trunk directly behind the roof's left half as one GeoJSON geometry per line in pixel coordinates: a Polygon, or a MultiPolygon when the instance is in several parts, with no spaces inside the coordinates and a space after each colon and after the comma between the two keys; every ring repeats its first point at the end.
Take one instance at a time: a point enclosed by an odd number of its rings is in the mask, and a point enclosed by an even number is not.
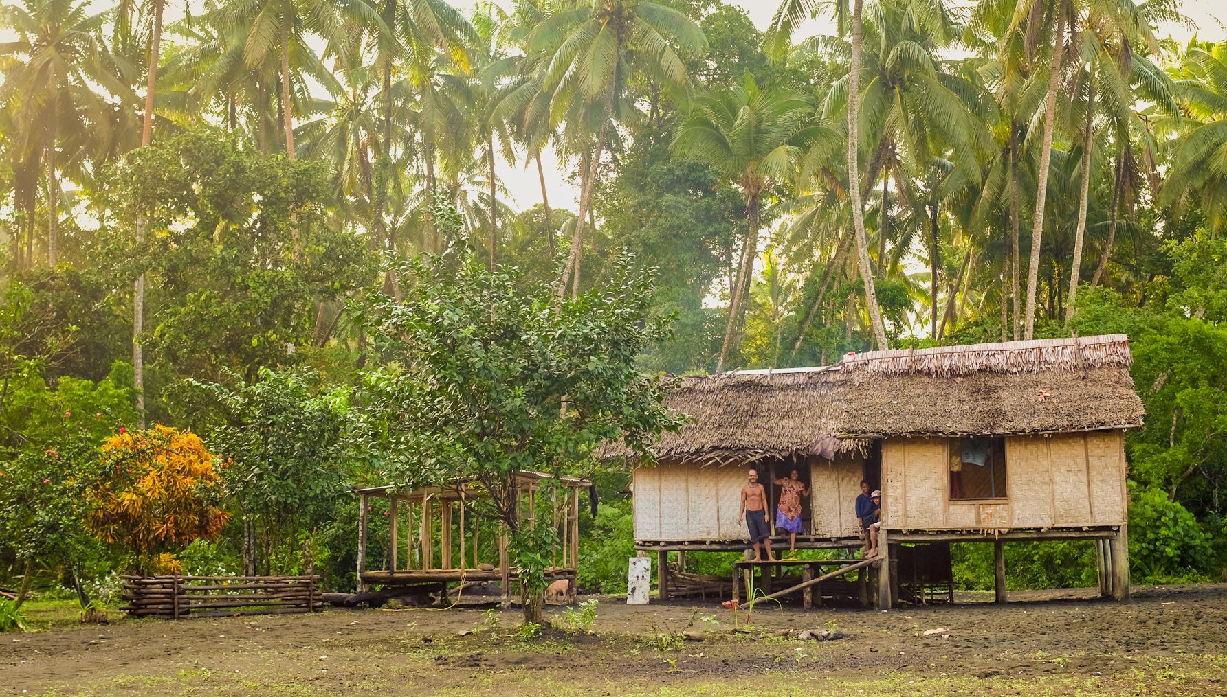
{"type": "Polygon", "coordinates": [[[750,232],[741,245],[736,283],[729,289],[729,320],[717,372],[724,370],[740,336],[745,296],[758,256],[761,197],[794,170],[800,156],[799,136],[812,110],[800,94],[782,88],[760,89],[747,75],[734,89],[697,99],[674,141],[680,154],[707,163],[736,184],[746,197],[750,232]]]}

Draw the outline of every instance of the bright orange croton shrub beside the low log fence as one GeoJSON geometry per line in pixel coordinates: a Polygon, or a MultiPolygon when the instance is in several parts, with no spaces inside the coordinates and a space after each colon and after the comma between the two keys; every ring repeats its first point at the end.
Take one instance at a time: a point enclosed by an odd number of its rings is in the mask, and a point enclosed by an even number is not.
{"type": "Polygon", "coordinates": [[[90,532],[150,571],[177,571],[171,555],[195,539],[217,539],[229,518],[216,505],[223,495],[217,458],[190,431],[120,432],[101,457],[102,475],[86,490],[90,532]]]}

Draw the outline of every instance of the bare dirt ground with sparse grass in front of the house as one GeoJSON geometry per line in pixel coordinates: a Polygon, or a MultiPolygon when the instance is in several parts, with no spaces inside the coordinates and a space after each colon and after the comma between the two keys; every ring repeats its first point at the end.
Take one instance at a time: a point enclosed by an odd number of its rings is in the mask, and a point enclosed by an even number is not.
{"type": "Polygon", "coordinates": [[[602,598],[593,632],[531,641],[515,609],[123,620],[0,636],[0,695],[1227,692],[1227,584],[1135,587],[1125,603],[1088,595],[890,612],[761,605],[748,632],[714,601],[602,598]],[[845,638],[773,636],[832,626],[845,638]]]}

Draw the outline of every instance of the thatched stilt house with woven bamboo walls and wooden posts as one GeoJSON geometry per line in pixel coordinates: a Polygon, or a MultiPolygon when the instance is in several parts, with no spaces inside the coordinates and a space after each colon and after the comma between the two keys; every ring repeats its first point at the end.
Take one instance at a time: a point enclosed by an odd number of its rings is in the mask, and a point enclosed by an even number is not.
{"type": "MultiPolygon", "coordinates": [[[[682,380],[692,421],[634,468],[637,549],[742,550],[740,489],[798,469],[812,486],[798,548],[860,546],[859,484],[882,491],[877,603],[910,563],[951,541],[1092,539],[1101,589],[1129,593],[1124,431],[1142,421],[1123,334],[849,354],[832,366],[682,380]]],[[[774,538],[777,545],[783,537],[774,538]]],[[[944,550],[944,551],[942,551],[944,550]]],[[[948,568],[948,561],[946,562],[948,568]]],[[[669,570],[660,565],[667,587],[669,570]]]]}

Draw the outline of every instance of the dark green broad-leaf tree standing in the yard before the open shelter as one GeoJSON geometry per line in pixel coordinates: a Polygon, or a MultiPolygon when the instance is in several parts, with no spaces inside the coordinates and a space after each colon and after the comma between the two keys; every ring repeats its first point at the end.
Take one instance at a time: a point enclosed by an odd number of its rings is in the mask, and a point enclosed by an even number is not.
{"type": "Polygon", "coordinates": [[[663,405],[670,381],[636,365],[666,325],[652,310],[650,273],[628,266],[553,299],[467,251],[421,257],[409,263],[415,282],[402,303],[375,298],[367,310],[389,359],[362,387],[366,431],[393,456],[385,472],[410,485],[481,484],[490,497],[479,512],[513,535],[529,621],[540,621],[552,529],[521,519],[514,473],[583,472],[602,443],[647,454],[680,425],[663,405]]]}

